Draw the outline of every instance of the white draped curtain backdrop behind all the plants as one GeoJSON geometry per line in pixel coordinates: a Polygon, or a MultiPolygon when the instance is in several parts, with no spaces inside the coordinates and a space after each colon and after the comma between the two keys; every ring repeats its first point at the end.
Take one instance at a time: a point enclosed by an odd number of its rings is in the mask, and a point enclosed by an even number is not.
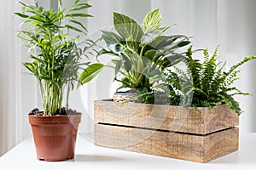
{"type": "MultiPolygon", "coordinates": [[[[66,5],[70,0],[62,0],[66,5]]],[[[23,2],[32,2],[26,0],[23,2]]],[[[40,0],[45,7],[55,8],[53,0],[40,0]]],[[[194,48],[209,48],[213,51],[218,45],[220,59],[230,65],[243,56],[256,54],[256,1],[254,0],[90,0],[94,15],[85,23],[89,35],[97,35],[98,30],[112,26],[112,13],[127,14],[138,22],[151,9],[160,8],[163,26],[172,26],[168,33],[185,34],[193,38],[194,48]],[[173,26],[177,24],[177,26],[173,26]]],[[[26,60],[26,47],[21,46],[15,37],[20,20],[12,20],[13,13],[19,10],[15,0],[0,2],[0,156],[20,140],[31,135],[27,113],[35,106],[41,106],[36,82],[33,77],[22,74],[21,66],[26,60]]],[[[237,86],[253,96],[239,97],[241,108],[241,133],[256,132],[256,61],[242,67],[237,86]]],[[[73,93],[71,106],[85,114],[80,126],[81,132],[93,130],[93,100],[110,98],[113,71],[104,70],[89,85],[73,93]]]]}

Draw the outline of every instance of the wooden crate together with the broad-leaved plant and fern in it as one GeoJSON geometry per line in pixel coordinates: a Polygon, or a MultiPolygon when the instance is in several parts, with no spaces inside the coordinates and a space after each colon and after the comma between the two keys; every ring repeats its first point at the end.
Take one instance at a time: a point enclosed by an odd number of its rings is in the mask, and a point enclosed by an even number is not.
{"type": "Polygon", "coordinates": [[[189,41],[160,35],[166,29],[159,28],[159,10],[147,14],[142,27],[117,13],[113,24],[119,35],[102,31],[108,47],[102,53],[119,57],[113,62],[116,75],[124,76],[122,88],[141,93],[133,96],[139,103],[95,101],[95,144],[198,162],[238,150],[241,109],[234,95],[247,93],[232,86],[237,68],[256,56],[224,71],[217,49],[212,56],[203,50],[202,62],[192,48],[177,54],[173,49],[189,41]],[[137,80],[142,83],[133,86],[137,80]]]}

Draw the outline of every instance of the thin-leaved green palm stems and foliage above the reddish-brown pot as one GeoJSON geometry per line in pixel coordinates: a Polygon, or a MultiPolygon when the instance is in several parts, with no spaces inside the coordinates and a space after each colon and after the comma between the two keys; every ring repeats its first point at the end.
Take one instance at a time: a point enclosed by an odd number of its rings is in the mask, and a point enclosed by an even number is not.
{"type": "Polygon", "coordinates": [[[78,17],[90,17],[84,9],[90,8],[83,0],[75,0],[69,8],[62,8],[62,1],[58,0],[58,9],[45,9],[38,5],[20,2],[22,12],[15,13],[23,19],[21,25],[26,25],[24,30],[18,31],[18,37],[24,40],[29,47],[28,57],[31,61],[23,65],[37,78],[44,103],[44,115],[53,116],[61,113],[61,107],[66,93],[66,109],[70,91],[81,83],[89,82],[96,73],[102,69],[102,64],[90,62],[80,63],[82,56],[86,57],[88,48],[94,42],[79,42],[79,36],[70,38],[70,31],[86,34],[85,26],[76,20],[78,17]],[[84,69],[84,65],[88,65],[84,69]],[[79,71],[84,70],[79,78],[79,71]]]}

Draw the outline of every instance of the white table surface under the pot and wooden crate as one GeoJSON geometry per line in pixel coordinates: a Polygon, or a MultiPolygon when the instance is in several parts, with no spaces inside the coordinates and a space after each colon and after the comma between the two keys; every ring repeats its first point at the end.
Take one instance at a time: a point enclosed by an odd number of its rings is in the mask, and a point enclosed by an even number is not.
{"type": "Polygon", "coordinates": [[[0,169],[20,170],[163,170],[163,169],[256,169],[256,133],[241,134],[240,149],[205,164],[182,161],[161,156],[151,156],[124,150],[94,146],[79,135],[75,159],[69,161],[38,161],[32,138],[25,139],[14,149],[0,157],[0,169]]]}

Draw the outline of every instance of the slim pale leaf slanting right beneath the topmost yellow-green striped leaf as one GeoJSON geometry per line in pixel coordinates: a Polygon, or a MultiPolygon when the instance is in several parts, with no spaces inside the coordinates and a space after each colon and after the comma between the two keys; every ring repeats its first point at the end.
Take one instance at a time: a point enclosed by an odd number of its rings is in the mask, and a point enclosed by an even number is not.
{"type": "Polygon", "coordinates": [[[149,44],[151,42],[154,42],[154,40],[157,37],[160,37],[160,35],[162,33],[164,33],[166,30],[168,30],[169,28],[170,28],[170,26],[166,26],[166,27],[154,30],[154,31],[149,31],[148,33],[143,35],[143,37],[142,37],[142,44],[145,45],[145,44],[149,44]]]}

